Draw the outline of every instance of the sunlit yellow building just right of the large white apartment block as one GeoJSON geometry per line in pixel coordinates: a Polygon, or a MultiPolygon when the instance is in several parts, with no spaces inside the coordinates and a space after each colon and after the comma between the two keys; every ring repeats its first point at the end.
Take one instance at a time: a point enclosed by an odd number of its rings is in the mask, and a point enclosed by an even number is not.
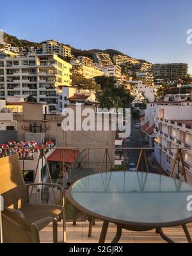
{"type": "Polygon", "coordinates": [[[92,79],[95,76],[104,76],[104,72],[95,66],[83,65],[79,60],[70,61],[72,65],[72,72],[83,76],[86,79],[92,79]]]}

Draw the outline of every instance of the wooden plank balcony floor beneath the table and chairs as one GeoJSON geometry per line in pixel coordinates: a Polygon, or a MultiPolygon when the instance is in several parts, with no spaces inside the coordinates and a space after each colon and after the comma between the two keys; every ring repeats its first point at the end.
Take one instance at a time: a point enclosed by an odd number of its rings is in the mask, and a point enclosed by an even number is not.
{"type": "MultiPolygon", "coordinates": [[[[92,237],[88,237],[88,222],[77,222],[73,226],[71,222],[67,223],[67,243],[98,243],[102,222],[97,221],[93,225],[92,237]]],[[[61,224],[58,225],[58,240],[62,240],[61,224]]],[[[192,237],[192,223],[188,224],[189,234],[192,237]]],[[[182,227],[163,228],[164,234],[170,237],[175,243],[188,243],[182,227]]],[[[116,233],[116,226],[109,225],[106,243],[111,243],[116,233]]],[[[52,243],[52,227],[47,226],[40,232],[40,239],[42,243],[52,243]]],[[[123,230],[122,238],[119,243],[166,243],[158,234],[156,230],[145,232],[132,232],[123,230]]]]}

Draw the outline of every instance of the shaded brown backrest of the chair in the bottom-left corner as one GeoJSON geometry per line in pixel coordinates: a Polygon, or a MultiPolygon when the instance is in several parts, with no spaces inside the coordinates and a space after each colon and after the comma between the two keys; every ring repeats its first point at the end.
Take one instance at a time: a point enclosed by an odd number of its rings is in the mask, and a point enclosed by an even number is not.
{"type": "Polygon", "coordinates": [[[9,209],[2,211],[3,243],[40,243],[36,225],[20,218],[9,209]]]}

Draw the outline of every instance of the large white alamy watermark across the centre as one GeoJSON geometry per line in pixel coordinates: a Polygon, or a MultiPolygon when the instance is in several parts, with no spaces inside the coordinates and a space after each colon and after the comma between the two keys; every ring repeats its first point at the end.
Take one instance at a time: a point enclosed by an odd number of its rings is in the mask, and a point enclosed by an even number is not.
{"type": "Polygon", "coordinates": [[[120,138],[127,138],[131,134],[130,108],[65,108],[62,115],[66,116],[61,128],[63,131],[120,131],[120,138]]]}

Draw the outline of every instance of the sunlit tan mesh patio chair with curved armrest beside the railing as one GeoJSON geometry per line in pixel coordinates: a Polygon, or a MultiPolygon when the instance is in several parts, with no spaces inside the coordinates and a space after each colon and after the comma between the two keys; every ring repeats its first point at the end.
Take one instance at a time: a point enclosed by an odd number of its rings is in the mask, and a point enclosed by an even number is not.
{"type": "Polygon", "coordinates": [[[51,217],[57,221],[63,220],[63,241],[66,242],[66,223],[64,209],[63,187],[52,183],[33,183],[26,185],[20,170],[19,157],[3,157],[0,159],[0,195],[4,198],[4,207],[13,209],[28,223],[37,223],[38,230],[47,226],[46,221],[39,221],[51,217]],[[61,205],[29,204],[28,188],[33,185],[58,187],[62,193],[61,205]]]}

